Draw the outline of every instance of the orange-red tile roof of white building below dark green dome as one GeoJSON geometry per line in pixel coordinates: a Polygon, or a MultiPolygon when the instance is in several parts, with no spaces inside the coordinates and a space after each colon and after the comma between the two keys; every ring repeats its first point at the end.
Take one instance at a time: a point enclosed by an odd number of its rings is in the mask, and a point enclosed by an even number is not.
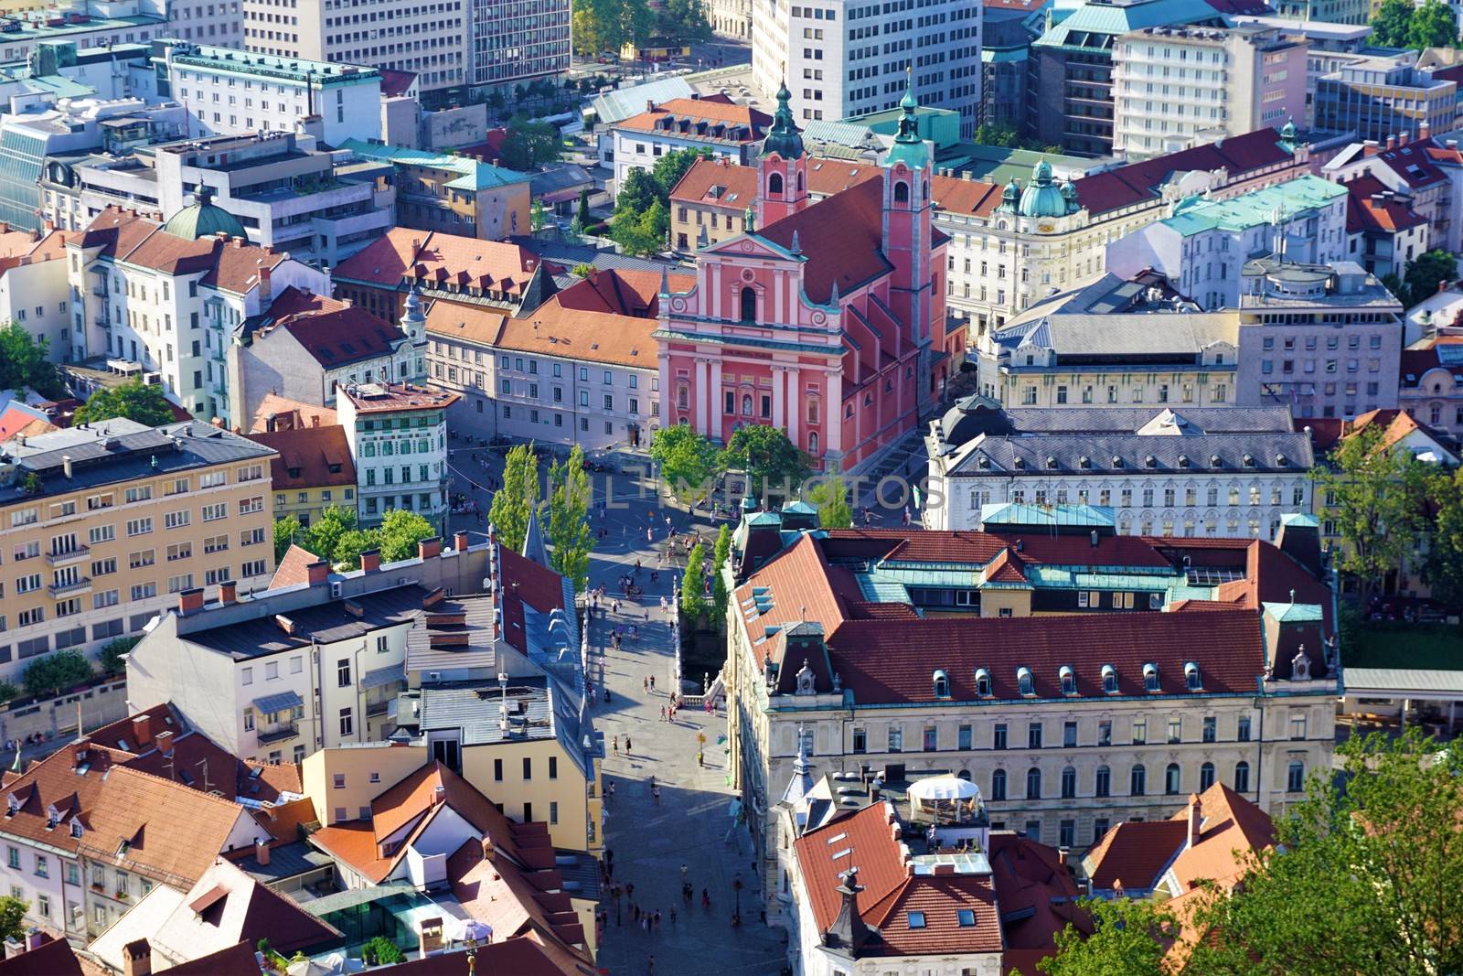
{"type": "Polygon", "coordinates": [[[208,287],[246,294],[259,285],[260,268],[274,269],[285,260],[274,247],[257,247],[238,239],[174,237],[162,225],[133,211],[108,206],[80,234],[83,250],[126,260],[170,275],[203,272],[208,287]]]}

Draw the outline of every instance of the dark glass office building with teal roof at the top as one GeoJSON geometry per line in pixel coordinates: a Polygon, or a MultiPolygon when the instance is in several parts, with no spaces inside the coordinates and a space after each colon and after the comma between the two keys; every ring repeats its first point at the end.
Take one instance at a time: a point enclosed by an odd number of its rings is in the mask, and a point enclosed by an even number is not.
{"type": "Polygon", "coordinates": [[[1034,86],[1027,132],[1043,145],[1083,157],[1113,148],[1113,54],[1118,38],[1157,26],[1222,28],[1207,3],[1189,0],[1086,0],[1064,18],[1053,15],[1031,44],[1034,86]]]}

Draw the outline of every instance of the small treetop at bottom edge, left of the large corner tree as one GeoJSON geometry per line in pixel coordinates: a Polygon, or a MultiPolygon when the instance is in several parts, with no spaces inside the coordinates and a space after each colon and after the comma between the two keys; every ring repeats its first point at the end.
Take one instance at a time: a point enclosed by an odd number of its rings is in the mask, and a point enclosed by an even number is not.
{"type": "Polygon", "coordinates": [[[1056,954],[1036,967],[1048,976],[1165,976],[1165,939],[1173,916],[1157,903],[1087,898],[1090,928],[1068,925],[1056,935],[1056,954]],[[1090,935],[1088,935],[1090,932],[1090,935]]]}

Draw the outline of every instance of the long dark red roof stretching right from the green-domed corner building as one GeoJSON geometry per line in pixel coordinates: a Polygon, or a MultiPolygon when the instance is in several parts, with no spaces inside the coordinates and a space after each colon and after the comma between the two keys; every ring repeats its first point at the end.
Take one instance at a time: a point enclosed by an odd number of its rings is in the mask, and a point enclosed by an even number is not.
{"type": "Polygon", "coordinates": [[[1290,161],[1295,154],[1280,145],[1274,129],[1258,129],[1242,136],[1210,142],[1166,157],[1097,173],[1075,180],[1077,200],[1093,215],[1157,200],[1160,187],[1179,173],[1226,170],[1229,181],[1246,173],[1290,161]]]}

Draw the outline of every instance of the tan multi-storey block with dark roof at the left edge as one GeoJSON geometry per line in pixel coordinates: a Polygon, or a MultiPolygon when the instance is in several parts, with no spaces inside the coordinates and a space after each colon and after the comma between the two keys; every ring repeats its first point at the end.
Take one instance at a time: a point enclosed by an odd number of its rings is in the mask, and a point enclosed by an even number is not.
{"type": "Polygon", "coordinates": [[[177,594],[274,572],[274,451],[192,421],[107,420],[0,455],[0,669],[140,634],[177,594]]]}

